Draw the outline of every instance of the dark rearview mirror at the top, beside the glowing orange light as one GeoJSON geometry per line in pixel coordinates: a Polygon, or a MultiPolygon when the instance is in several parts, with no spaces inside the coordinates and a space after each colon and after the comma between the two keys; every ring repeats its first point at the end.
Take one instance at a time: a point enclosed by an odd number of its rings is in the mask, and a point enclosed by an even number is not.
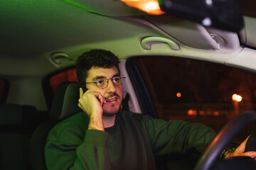
{"type": "Polygon", "coordinates": [[[233,0],[158,0],[162,11],[206,27],[238,32],[242,11],[233,0]]]}

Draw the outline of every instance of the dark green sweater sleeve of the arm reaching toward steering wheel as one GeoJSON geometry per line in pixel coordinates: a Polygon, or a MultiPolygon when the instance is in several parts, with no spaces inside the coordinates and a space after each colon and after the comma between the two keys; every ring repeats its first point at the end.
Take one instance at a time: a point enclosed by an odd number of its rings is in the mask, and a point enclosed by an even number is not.
{"type": "Polygon", "coordinates": [[[144,127],[154,154],[183,154],[196,149],[203,152],[215,137],[215,132],[200,123],[144,117],[144,127]]]}

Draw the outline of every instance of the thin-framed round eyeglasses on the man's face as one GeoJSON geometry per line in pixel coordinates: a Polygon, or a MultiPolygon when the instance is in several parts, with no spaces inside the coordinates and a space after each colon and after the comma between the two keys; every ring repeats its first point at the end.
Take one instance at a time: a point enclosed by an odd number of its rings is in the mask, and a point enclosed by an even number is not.
{"type": "Polygon", "coordinates": [[[111,79],[107,79],[105,77],[102,77],[100,79],[97,79],[94,82],[85,82],[85,84],[96,84],[96,86],[100,89],[105,89],[107,88],[108,84],[109,84],[109,80],[112,81],[112,83],[115,86],[120,86],[124,83],[124,78],[125,77],[120,77],[120,76],[116,76],[116,77],[112,77],[111,79]]]}

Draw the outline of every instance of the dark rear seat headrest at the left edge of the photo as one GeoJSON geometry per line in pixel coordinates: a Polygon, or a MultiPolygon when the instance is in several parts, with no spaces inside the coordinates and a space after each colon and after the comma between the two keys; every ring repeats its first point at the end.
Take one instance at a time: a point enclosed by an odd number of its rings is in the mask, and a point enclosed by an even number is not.
{"type": "Polygon", "coordinates": [[[18,125],[22,122],[22,106],[14,104],[0,105],[0,125],[18,125]]]}

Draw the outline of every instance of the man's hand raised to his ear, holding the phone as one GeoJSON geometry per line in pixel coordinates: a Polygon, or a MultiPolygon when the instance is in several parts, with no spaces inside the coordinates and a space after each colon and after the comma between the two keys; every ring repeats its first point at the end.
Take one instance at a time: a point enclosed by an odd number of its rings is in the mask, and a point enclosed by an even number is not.
{"type": "Polygon", "coordinates": [[[102,122],[103,104],[105,103],[105,98],[99,92],[87,90],[84,94],[80,88],[78,106],[90,119],[88,129],[105,131],[102,122]]]}

